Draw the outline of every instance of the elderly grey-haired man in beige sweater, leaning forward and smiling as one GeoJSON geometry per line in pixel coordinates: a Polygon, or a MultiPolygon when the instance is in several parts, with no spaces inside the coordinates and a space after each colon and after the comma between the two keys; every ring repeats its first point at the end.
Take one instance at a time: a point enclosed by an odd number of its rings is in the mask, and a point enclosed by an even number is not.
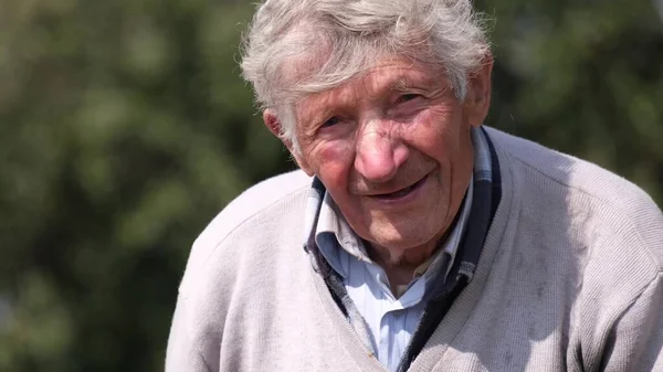
{"type": "Polygon", "coordinates": [[[469,0],[267,0],[242,70],[301,171],[193,245],[167,371],[663,371],[663,215],[483,127],[469,0]]]}

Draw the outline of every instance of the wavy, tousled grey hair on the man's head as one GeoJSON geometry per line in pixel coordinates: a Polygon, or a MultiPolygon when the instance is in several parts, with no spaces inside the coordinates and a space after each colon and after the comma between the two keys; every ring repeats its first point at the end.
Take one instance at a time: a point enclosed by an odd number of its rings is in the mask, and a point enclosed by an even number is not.
{"type": "Polygon", "coordinates": [[[456,97],[490,53],[471,0],[266,0],[243,40],[241,67],[262,109],[295,138],[294,104],[337,87],[379,59],[441,66],[456,97]]]}

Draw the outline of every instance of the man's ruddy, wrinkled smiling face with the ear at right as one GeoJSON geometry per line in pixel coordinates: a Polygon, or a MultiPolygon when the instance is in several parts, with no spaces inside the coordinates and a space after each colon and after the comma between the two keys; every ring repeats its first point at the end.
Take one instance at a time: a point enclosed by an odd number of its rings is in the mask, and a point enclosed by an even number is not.
{"type": "Polygon", "coordinates": [[[364,240],[399,251],[435,244],[471,179],[470,128],[485,118],[490,68],[484,75],[461,103],[439,70],[380,63],[296,105],[295,158],[364,240]]]}

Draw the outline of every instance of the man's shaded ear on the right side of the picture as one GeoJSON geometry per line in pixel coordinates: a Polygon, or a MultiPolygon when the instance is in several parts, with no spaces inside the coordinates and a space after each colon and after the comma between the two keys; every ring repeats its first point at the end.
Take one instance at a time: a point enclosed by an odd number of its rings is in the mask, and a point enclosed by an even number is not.
{"type": "Polygon", "coordinates": [[[482,65],[469,76],[467,97],[465,106],[469,109],[470,125],[480,126],[484,123],[491,107],[491,76],[493,73],[493,55],[487,54],[482,65]]]}

